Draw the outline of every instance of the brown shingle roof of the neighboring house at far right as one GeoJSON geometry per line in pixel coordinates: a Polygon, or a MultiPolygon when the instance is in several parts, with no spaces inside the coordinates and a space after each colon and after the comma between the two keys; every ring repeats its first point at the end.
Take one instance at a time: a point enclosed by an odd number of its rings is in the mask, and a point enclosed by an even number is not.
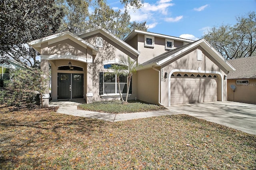
{"type": "Polygon", "coordinates": [[[256,56],[228,60],[235,71],[230,71],[228,79],[256,78],[256,56]]]}

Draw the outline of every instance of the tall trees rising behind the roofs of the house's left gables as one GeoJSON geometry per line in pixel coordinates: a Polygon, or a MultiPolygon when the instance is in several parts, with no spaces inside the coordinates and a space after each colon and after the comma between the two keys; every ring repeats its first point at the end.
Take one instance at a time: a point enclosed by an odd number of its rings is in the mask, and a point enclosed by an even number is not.
{"type": "MultiPolygon", "coordinates": [[[[123,2],[127,5],[128,2],[133,1],[123,2]]],[[[57,4],[65,9],[65,17],[62,20],[60,31],[69,30],[76,33],[88,28],[102,26],[118,38],[124,39],[135,28],[145,31],[148,28],[146,22],[130,22],[130,15],[127,10],[124,13],[120,10],[115,11],[106,4],[105,0],[94,2],[89,0],[58,0],[57,4]],[[88,12],[89,6],[94,7],[92,14],[88,12]]],[[[139,6],[136,7],[139,8],[139,6]]]]}

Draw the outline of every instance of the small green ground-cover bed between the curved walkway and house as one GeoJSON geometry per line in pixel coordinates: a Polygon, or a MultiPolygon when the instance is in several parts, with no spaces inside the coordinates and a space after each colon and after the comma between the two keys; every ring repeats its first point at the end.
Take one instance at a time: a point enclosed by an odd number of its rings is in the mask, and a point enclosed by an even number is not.
{"type": "Polygon", "coordinates": [[[139,100],[130,100],[126,104],[121,101],[100,101],[90,104],[79,105],[78,109],[104,113],[134,113],[165,110],[165,107],[153,105],[139,100]]]}

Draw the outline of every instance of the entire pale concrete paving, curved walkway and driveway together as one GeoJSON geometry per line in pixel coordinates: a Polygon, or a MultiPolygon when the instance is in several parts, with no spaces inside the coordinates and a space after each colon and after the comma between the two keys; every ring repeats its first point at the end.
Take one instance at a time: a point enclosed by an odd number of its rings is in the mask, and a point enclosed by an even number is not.
{"type": "Polygon", "coordinates": [[[110,114],[78,110],[77,105],[84,99],[71,101],[51,101],[50,106],[58,106],[57,113],[100,119],[103,121],[126,121],[163,115],[187,114],[206,121],[218,123],[249,134],[256,134],[256,105],[230,101],[173,105],[164,111],[110,114]]]}

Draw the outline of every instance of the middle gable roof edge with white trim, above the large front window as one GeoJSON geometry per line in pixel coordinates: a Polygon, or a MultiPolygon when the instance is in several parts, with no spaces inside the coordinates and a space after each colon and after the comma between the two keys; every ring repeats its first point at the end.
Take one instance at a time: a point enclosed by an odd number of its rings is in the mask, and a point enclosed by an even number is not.
{"type": "Polygon", "coordinates": [[[120,45],[120,47],[126,49],[127,51],[134,54],[135,56],[140,55],[140,51],[136,50],[135,48],[130,46],[128,43],[120,40],[118,37],[114,36],[114,34],[110,33],[108,30],[102,28],[101,26],[76,33],[76,35],[79,36],[80,38],[90,37],[95,34],[102,34],[103,36],[110,39],[112,42],[115,42],[116,44],[120,45]]]}

